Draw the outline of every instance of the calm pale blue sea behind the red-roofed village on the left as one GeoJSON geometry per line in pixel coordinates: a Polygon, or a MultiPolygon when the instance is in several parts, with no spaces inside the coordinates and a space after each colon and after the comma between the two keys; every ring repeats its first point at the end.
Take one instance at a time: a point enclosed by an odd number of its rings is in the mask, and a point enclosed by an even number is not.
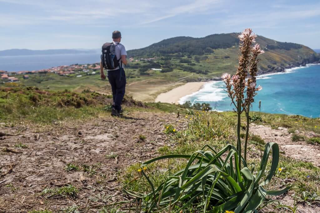
{"type": "Polygon", "coordinates": [[[100,53],[59,54],[34,56],[1,56],[0,70],[8,72],[48,69],[71,64],[93,64],[100,62],[100,53]]]}

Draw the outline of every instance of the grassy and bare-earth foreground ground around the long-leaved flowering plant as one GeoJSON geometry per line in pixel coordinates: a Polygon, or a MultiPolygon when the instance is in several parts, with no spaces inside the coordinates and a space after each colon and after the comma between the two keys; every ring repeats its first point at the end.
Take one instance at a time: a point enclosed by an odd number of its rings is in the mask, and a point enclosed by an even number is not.
{"type": "MultiPolygon", "coordinates": [[[[133,208],[135,200],[122,189],[150,190],[138,172],[141,162],[164,154],[190,154],[204,144],[216,150],[235,144],[233,112],[201,112],[126,97],[123,117],[112,118],[110,103],[110,95],[88,90],[1,87],[1,211],[116,212],[128,203],[110,204],[129,200],[133,208]]],[[[319,211],[319,118],[258,112],[252,118],[250,163],[258,168],[265,142],[276,141],[279,170],[268,189],[293,184],[260,212],[319,211]]],[[[186,161],[169,164],[174,172],[186,161]]],[[[145,170],[155,186],[168,172],[167,161],[145,170]]]]}

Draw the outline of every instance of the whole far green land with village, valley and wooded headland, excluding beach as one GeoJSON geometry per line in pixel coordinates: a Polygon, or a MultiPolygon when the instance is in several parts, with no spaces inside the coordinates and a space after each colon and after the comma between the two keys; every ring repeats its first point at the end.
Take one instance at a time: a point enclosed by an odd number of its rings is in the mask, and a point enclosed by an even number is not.
{"type": "MultiPolygon", "coordinates": [[[[238,42],[236,33],[214,34],[204,38],[175,37],[129,50],[128,57],[133,58],[125,67],[126,94],[139,101],[154,102],[159,94],[186,82],[220,80],[223,72],[233,74],[238,65],[238,42]]],[[[300,44],[277,42],[262,36],[257,37],[257,42],[266,51],[259,56],[260,74],[283,72],[285,68],[320,60],[312,49],[300,44]]],[[[100,80],[97,67],[99,64],[86,68],[64,66],[54,68],[54,72],[30,74],[28,79],[23,79],[23,74],[16,77],[20,86],[75,92],[91,89],[111,94],[108,81],[100,80]],[[74,73],[59,75],[70,70],[74,73]]]]}

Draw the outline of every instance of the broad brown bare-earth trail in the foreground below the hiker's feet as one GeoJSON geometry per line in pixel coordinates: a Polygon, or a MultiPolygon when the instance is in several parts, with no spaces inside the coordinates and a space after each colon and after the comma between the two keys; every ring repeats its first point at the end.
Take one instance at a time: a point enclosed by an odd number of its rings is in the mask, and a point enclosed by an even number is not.
{"type": "Polygon", "coordinates": [[[166,143],[164,125],[171,123],[179,128],[176,117],[134,112],[125,118],[68,123],[41,133],[28,126],[2,128],[2,132],[20,135],[0,138],[0,149],[6,150],[0,151],[0,169],[2,174],[8,172],[0,176],[0,212],[45,208],[59,212],[72,205],[82,209],[80,212],[97,212],[84,209],[118,201],[121,195],[117,189],[121,186],[116,181],[117,172],[155,156],[157,147],[166,143]],[[140,134],[146,137],[144,141],[139,140],[140,134]],[[20,143],[28,147],[14,147],[20,143]],[[82,169],[66,171],[69,163],[82,169]],[[40,195],[45,187],[66,183],[79,189],[77,199],[47,199],[40,195]]]}

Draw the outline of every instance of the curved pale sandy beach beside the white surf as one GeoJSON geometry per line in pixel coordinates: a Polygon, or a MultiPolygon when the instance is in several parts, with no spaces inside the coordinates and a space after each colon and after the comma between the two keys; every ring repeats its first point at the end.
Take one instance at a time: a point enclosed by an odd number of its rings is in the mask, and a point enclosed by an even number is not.
{"type": "Polygon", "coordinates": [[[170,90],[169,92],[161,93],[156,97],[155,102],[178,104],[180,98],[200,90],[205,83],[206,82],[188,82],[180,87],[170,90]]]}

